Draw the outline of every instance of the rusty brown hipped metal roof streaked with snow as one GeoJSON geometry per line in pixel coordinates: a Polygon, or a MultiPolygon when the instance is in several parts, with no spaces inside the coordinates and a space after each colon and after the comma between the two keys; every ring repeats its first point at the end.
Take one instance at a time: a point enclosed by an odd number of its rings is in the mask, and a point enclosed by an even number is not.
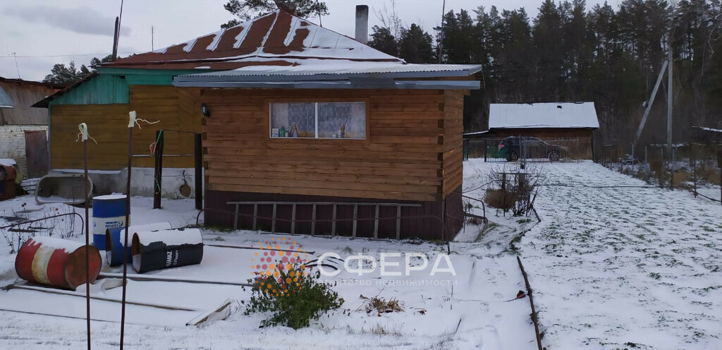
{"type": "Polygon", "coordinates": [[[295,66],[299,59],[404,63],[402,59],[279,10],[186,43],[101,66],[230,70],[259,64],[295,66]]]}

